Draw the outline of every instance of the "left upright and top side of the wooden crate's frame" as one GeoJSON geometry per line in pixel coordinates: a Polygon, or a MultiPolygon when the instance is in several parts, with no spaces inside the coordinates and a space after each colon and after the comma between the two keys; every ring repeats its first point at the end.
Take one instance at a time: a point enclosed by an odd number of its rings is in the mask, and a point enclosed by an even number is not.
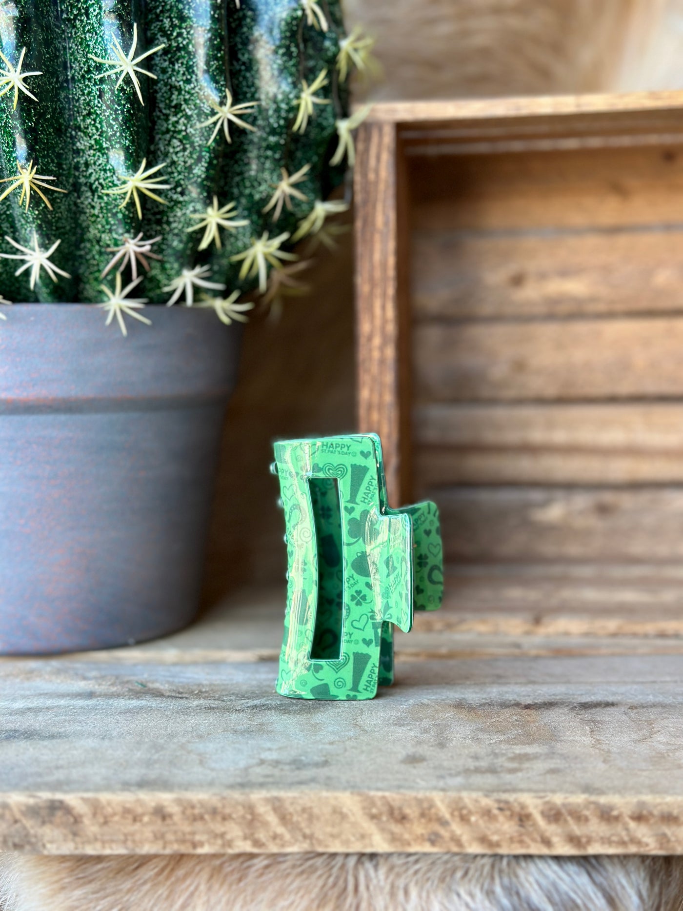
{"type": "MultiPolygon", "coordinates": [[[[358,426],[382,436],[390,501],[410,501],[410,202],[406,151],[424,143],[681,141],[683,92],[382,103],[355,169],[358,426]],[[647,140],[645,140],[647,141],[647,140]]],[[[558,145],[559,144],[559,145],[558,145]]]]}

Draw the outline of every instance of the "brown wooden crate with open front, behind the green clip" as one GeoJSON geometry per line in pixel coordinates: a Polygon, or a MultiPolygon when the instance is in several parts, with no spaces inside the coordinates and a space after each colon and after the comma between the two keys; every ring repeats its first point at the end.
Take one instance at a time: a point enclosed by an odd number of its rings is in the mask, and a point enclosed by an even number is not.
{"type": "Polygon", "coordinates": [[[452,597],[628,564],[678,609],[683,93],[378,104],[356,205],[360,426],[439,503],[452,597]]]}

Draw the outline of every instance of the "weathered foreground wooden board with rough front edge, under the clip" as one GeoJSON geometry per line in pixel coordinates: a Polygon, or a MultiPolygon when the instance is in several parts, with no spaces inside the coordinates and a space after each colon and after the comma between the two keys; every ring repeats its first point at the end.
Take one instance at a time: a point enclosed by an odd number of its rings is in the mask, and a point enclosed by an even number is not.
{"type": "Polygon", "coordinates": [[[343,707],[284,700],[274,674],[3,663],[0,845],[683,851],[683,656],[410,662],[343,707]]]}

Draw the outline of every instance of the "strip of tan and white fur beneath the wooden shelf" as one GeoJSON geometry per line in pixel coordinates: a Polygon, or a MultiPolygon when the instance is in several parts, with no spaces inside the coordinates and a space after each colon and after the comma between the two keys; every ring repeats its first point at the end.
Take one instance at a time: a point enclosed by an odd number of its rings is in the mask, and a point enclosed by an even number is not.
{"type": "Polygon", "coordinates": [[[665,857],[5,855],[4,871],[0,879],[4,911],[680,911],[683,907],[683,861],[665,857]]]}

